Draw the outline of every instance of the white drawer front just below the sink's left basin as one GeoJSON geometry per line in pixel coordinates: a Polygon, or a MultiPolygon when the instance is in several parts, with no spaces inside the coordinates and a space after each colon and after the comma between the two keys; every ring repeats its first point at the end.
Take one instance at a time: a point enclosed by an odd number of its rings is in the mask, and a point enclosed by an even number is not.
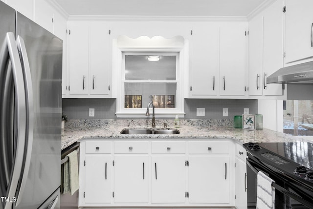
{"type": "Polygon", "coordinates": [[[148,141],[115,141],[114,153],[148,154],[148,141]]]}

